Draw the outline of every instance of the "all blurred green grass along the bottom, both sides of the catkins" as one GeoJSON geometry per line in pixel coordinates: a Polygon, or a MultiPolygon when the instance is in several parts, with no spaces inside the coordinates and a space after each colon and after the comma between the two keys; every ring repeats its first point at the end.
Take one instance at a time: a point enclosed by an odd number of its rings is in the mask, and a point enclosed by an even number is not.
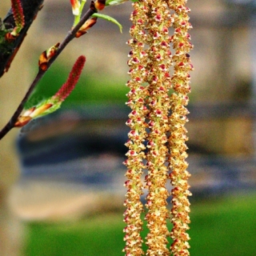
{"type": "MultiPolygon", "coordinates": [[[[194,202],[192,256],[256,255],[256,194],[194,202]]],[[[123,255],[122,213],[59,224],[31,223],[26,256],[123,255]]],[[[144,230],[144,237],[146,230],[144,230]]]]}

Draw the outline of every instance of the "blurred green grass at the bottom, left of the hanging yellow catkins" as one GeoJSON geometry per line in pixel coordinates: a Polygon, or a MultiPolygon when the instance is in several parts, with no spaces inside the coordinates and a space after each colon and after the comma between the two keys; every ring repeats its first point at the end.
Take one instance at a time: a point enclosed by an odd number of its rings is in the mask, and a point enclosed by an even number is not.
{"type": "Polygon", "coordinates": [[[65,224],[31,224],[26,255],[120,255],[122,214],[88,218],[65,224]]]}

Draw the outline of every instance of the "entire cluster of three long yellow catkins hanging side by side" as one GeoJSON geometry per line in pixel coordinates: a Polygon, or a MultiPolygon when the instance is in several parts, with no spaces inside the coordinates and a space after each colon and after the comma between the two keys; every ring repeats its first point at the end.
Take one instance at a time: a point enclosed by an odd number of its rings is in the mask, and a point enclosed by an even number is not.
{"type": "Polygon", "coordinates": [[[131,47],[128,66],[130,80],[127,94],[131,112],[126,122],[130,126],[129,148],[124,162],[127,166],[125,182],[126,211],[124,229],[126,256],[142,255],[143,210],[141,195],[146,188],[146,255],[189,255],[190,195],[186,170],[186,105],[189,101],[190,74],[193,69],[188,54],[191,25],[188,22],[189,8],[186,1],[140,0],[134,2],[130,16],[131,47]],[[170,26],[174,35],[169,35],[170,26]],[[174,48],[174,56],[170,52],[174,48]],[[174,74],[170,76],[170,66],[174,74]],[[173,88],[174,93],[170,94],[173,88]],[[169,136],[169,138],[167,138],[169,136]],[[146,143],[147,142],[147,143],[146,143]],[[145,146],[146,144],[146,146],[145,146]],[[144,165],[146,162],[146,166],[144,165]],[[142,184],[143,170],[147,169],[145,186],[142,184]],[[171,190],[171,213],[167,210],[167,179],[174,187],[171,190]],[[170,217],[171,214],[171,217],[170,217]],[[174,227],[167,229],[166,220],[171,218],[174,227]],[[167,238],[174,242],[168,248],[167,238]]]}

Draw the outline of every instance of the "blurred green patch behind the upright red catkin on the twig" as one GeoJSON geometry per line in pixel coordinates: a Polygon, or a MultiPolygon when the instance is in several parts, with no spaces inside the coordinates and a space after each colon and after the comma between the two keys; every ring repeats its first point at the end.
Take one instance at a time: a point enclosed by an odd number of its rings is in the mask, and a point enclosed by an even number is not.
{"type": "MultiPolygon", "coordinates": [[[[26,103],[26,108],[35,106],[38,102],[54,95],[62,84],[66,81],[70,70],[66,67],[53,65],[46,75],[38,83],[30,100],[26,103]]],[[[82,76],[70,96],[66,98],[62,106],[68,104],[85,103],[123,103],[127,101],[126,80],[110,77],[108,74],[95,74],[88,69],[82,71],[82,76]]]]}

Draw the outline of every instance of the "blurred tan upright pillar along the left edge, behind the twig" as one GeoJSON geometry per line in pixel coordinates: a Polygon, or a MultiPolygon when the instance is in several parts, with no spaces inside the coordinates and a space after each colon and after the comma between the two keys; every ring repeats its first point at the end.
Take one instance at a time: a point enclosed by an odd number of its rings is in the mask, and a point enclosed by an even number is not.
{"type": "MultiPolygon", "coordinates": [[[[10,8],[10,1],[0,3],[0,17],[4,18],[10,8]]],[[[27,36],[18,51],[8,73],[0,78],[0,129],[6,125],[21,102],[31,81],[30,36],[27,36]]],[[[22,222],[10,210],[8,198],[14,183],[18,180],[18,157],[15,152],[15,138],[18,129],[11,130],[0,141],[0,255],[20,255],[22,245],[22,222]]]]}

